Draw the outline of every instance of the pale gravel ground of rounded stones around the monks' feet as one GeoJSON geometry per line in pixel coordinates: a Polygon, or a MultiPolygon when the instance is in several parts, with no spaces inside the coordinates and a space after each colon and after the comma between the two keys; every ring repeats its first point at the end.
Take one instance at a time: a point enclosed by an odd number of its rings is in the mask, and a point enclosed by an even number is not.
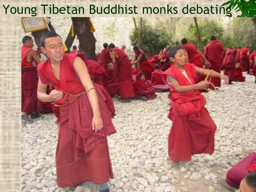
{"type": "MultiPolygon", "coordinates": [[[[218,92],[204,94],[206,108],[217,124],[213,155],[194,155],[191,162],[172,167],[167,154],[167,136],[172,122],[167,118],[168,93],[150,101],[120,103],[114,99],[117,133],[108,137],[115,178],[110,191],[227,192],[219,185],[226,172],[252,151],[256,151],[256,84],[254,76],[245,82],[223,85],[218,92]]],[[[55,150],[58,126],[54,114],[37,122],[22,122],[22,191],[59,192],[56,182],[55,150]]],[[[75,192],[98,191],[91,182],[75,192]]]]}

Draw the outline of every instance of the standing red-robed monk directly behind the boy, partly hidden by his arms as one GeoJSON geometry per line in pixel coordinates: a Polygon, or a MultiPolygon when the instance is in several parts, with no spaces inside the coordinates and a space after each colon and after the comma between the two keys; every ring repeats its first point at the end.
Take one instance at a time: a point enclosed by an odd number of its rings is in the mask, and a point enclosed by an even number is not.
{"type": "MultiPolygon", "coordinates": [[[[203,68],[204,62],[207,66],[210,66],[210,63],[204,57],[203,53],[201,53],[196,46],[188,43],[186,38],[181,39],[181,45],[186,50],[188,56],[188,62],[196,65],[199,68],[203,68]],[[204,62],[203,62],[204,60],[204,62]]],[[[197,74],[196,83],[200,81],[204,81],[205,77],[203,74],[197,74]]],[[[207,90],[199,90],[199,92],[208,92],[207,90]]]]}

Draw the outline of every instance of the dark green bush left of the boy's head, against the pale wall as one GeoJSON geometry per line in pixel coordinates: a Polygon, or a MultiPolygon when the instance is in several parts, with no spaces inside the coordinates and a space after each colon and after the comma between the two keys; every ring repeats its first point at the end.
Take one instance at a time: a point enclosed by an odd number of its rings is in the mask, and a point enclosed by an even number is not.
{"type": "MultiPolygon", "coordinates": [[[[152,26],[145,20],[142,22],[140,38],[140,49],[144,50],[145,53],[148,54],[148,57],[158,54],[161,49],[164,49],[165,47],[168,48],[172,44],[171,36],[166,30],[152,26]]],[[[130,41],[132,46],[138,44],[135,28],[130,31],[130,41]]]]}

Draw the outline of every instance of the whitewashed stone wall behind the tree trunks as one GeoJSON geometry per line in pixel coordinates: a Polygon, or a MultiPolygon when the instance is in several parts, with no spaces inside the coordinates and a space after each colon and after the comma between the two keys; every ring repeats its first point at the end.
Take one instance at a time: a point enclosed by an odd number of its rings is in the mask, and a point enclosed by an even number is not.
{"type": "MultiPolygon", "coordinates": [[[[96,53],[101,52],[103,49],[103,43],[114,43],[116,47],[121,48],[124,44],[126,45],[126,53],[133,58],[133,49],[130,45],[130,30],[134,27],[132,17],[91,17],[92,22],[94,23],[96,31],[94,36],[97,39],[96,42],[96,53]]],[[[51,22],[55,31],[63,38],[66,39],[68,36],[72,21],[70,17],[52,17],[51,22]]],[[[29,35],[32,37],[31,33],[24,33],[21,27],[21,36],[29,35]]],[[[22,38],[21,37],[21,38],[22,38]]],[[[73,45],[78,47],[79,41],[75,39],[73,45]]],[[[37,49],[37,46],[34,46],[34,49],[37,49]]],[[[71,48],[72,49],[72,48],[71,48]]],[[[42,54],[42,60],[45,59],[42,54]]]]}

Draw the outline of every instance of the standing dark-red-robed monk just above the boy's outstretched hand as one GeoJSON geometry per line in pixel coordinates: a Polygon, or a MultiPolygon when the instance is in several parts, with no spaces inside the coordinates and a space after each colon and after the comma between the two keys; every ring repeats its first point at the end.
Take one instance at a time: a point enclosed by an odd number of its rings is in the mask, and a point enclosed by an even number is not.
{"type": "Polygon", "coordinates": [[[222,63],[222,67],[224,68],[224,75],[229,77],[229,85],[233,83],[231,81],[235,80],[235,62],[238,58],[238,50],[236,48],[230,48],[227,50],[225,58],[222,63]]]}

